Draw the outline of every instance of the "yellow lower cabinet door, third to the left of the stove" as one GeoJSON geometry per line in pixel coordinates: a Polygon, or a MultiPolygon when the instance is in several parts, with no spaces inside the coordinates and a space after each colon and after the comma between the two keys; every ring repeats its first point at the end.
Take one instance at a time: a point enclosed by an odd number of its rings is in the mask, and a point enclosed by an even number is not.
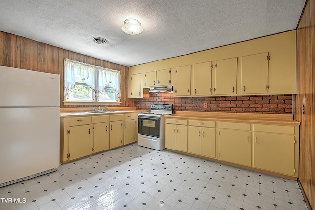
{"type": "Polygon", "coordinates": [[[94,152],[109,149],[109,122],[94,124],[93,148],[94,152]]]}

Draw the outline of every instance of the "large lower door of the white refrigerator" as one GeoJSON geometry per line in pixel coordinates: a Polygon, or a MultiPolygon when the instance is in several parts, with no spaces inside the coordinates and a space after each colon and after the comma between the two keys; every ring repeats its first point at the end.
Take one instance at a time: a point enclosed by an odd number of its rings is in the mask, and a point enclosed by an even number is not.
{"type": "Polygon", "coordinates": [[[0,184],[59,166],[59,107],[0,107],[0,184]]]}

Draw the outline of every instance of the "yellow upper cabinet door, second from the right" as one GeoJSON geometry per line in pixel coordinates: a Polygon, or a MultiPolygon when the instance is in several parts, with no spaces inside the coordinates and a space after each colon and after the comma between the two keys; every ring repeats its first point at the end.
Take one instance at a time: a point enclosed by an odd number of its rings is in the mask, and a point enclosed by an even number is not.
{"type": "Polygon", "coordinates": [[[217,60],[215,63],[216,95],[236,94],[237,58],[217,60]]]}

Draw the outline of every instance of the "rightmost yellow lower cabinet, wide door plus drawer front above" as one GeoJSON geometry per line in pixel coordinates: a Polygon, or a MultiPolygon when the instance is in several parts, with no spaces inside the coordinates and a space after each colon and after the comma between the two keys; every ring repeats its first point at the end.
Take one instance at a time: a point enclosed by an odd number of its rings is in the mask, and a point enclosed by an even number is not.
{"type": "Polygon", "coordinates": [[[253,125],[253,167],[297,175],[298,129],[294,126],[253,125]]]}

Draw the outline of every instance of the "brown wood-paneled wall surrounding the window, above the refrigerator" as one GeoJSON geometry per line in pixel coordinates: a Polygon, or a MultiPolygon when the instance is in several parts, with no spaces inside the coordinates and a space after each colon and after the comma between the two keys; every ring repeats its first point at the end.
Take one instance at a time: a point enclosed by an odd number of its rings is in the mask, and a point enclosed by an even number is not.
{"type": "Polygon", "coordinates": [[[119,70],[121,105],[112,106],[125,107],[128,104],[134,106],[134,99],[128,99],[128,67],[0,31],[0,65],[60,74],[60,107],[95,107],[95,105],[63,105],[65,58],[119,70]]]}

